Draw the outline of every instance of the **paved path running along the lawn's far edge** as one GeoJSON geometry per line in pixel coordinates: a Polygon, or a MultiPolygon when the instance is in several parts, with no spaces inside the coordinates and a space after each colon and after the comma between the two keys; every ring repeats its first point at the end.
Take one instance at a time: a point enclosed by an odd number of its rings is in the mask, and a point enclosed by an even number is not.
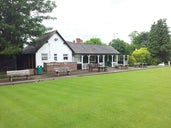
{"type": "MultiPolygon", "coordinates": [[[[150,66],[148,68],[152,68],[152,67],[150,66]]],[[[16,85],[16,84],[22,84],[22,83],[32,83],[32,82],[39,82],[39,81],[45,81],[45,80],[55,80],[55,79],[68,78],[68,77],[126,72],[126,71],[134,71],[134,70],[140,70],[140,69],[142,70],[142,69],[148,69],[148,68],[133,68],[133,67],[129,67],[128,69],[109,68],[108,71],[105,71],[105,72],[102,72],[102,71],[98,72],[96,69],[94,69],[93,72],[89,72],[88,70],[78,70],[78,71],[71,72],[70,75],[60,75],[59,77],[55,75],[55,73],[44,73],[42,75],[30,76],[28,80],[26,80],[25,77],[15,77],[12,82],[10,82],[8,78],[0,79],[0,86],[16,85]]]]}

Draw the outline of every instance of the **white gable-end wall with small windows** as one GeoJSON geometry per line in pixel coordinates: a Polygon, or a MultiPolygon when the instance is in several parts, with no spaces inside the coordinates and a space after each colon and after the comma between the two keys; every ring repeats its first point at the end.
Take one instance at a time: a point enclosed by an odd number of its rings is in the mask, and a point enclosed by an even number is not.
{"type": "Polygon", "coordinates": [[[36,67],[43,67],[44,63],[49,62],[72,62],[72,51],[57,34],[54,34],[36,53],[36,67]],[[42,53],[48,54],[48,60],[42,60],[42,53]],[[57,54],[57,61],[54,60],[54,54],[57,54]],[[63,59],[63,54],[68,54],[68,60],[63,59]]]}

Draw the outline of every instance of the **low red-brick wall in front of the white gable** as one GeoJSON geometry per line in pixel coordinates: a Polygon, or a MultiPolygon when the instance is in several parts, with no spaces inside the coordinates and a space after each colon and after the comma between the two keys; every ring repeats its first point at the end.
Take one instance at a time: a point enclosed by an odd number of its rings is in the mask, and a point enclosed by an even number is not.
{"type": "Polygon", "coordinates": [[[60,67],[69,67],[71,71],[77,70],[77,63],[76,62],[51,62],[51,63],[44,63],[44,71],[45,72],[54,72],[54,68],[60,67]]]}

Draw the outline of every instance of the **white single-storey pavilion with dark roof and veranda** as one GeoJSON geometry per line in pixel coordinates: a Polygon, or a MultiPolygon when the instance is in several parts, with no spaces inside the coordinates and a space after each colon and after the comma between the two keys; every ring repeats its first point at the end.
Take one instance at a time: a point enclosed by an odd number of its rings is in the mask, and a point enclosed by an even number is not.
{"type": "Polygon", "coordinates": [[[35,56],[31,61],[35,67],[51,62],[76,62],[80,69],[86,69],[90,63],[113,66],[118,63],[120,53],[107,45],[67,42],[58,31],[52,31],[26,47],[23,54],[35,56]]]}

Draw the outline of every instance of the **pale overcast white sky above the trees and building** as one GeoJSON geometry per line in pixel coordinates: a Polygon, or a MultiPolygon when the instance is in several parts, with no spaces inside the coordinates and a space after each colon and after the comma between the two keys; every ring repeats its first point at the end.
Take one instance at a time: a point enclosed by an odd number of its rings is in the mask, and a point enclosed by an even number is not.
{"type": "Polygon", "coordinates": [[[44,21],[67,41],[100,38],[108,44],[119,38],[130,43],[133,31],[150,31],[159,19],[171,27],[170,0],[55,0],[50,14],[57,20],[44,21]]]}

